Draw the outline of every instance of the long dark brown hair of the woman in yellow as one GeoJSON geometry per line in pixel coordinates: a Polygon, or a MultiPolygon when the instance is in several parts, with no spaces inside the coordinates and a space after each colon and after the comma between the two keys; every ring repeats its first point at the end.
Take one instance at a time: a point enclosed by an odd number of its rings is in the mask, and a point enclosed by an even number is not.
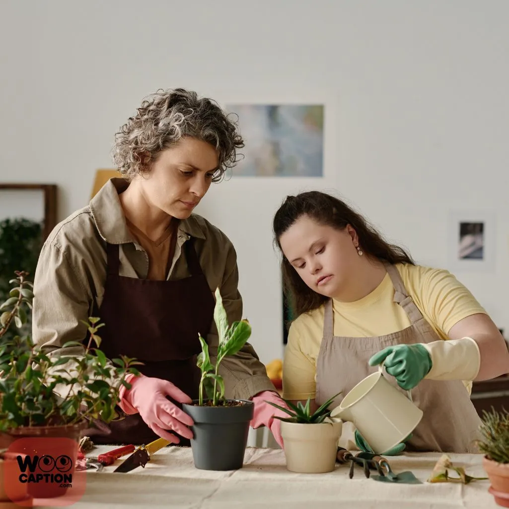
{"type": "MultiPolygon", "coordinates": [[[[307,215],[320,224],[328,225],[336,230],[343,230],[347,224],[357,232],[359,246],[366,254],[378,260],[385,260],[391,264],[407,263],[415,265],[410,254],[400,246],[389,244],[382,235],[359,213],[345,202],[330,194],[320,191],[308,191],[287,196],[277,210],[274,221],[274,242],[282,253],[279,239],[292,224],[301,216],[307,215]]],[[[295,268],[282,253],[281,262],[283,289],[297,318],[302,313],[320,307],[327,299],[310,289],[301,279],[295,268]]]]}

